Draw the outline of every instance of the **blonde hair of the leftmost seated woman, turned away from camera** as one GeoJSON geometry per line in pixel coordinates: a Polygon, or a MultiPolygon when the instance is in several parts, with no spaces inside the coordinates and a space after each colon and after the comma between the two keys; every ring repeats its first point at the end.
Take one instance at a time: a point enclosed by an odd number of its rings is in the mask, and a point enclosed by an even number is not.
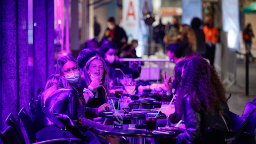
{"type": "Polygon", "coordinates": [[[71,89],[67,79],[59,74],[52,74],[46,82],[44,92],[41,95],[41,102],[45,103],[47,98],[51,97],[52,93],[60,88],[71,89]]]}

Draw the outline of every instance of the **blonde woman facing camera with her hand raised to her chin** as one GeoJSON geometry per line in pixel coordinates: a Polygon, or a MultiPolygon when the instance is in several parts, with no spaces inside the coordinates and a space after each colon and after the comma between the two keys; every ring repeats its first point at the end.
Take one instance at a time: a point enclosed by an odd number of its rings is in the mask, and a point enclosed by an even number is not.
{"type": "Polygon", "coordinates": [[[109,92],[109,77],[105,61],[92,57],[84,67],[84,98],[88,99],[87,106],[95,108],[106,103],[109,92]],[[106,90],[106,91],[105,91],[106,90]]]}

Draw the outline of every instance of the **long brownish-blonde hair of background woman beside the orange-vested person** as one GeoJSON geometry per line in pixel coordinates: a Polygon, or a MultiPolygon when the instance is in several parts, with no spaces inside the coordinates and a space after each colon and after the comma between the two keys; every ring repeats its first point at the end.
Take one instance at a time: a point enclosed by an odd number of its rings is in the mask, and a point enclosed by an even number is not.
{"type": "Polygon", "coordinates": [[[189,25],[182,25],[182,32],[181,35],[188,37],[189,46],[193,53],[196,52],[196,35],[194,30],[189,25]]]}

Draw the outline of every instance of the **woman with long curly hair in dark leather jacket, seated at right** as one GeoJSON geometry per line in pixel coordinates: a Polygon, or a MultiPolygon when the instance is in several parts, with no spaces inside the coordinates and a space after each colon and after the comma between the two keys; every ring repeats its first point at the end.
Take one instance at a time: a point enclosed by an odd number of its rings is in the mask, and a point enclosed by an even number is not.
{"type": "Polygon", "coordinates": [[[183,113],[186,132],[176,143],[202,143],[208,127],[229,131],[227,98],[217,71],[203,58],[188,59],[177,91],[177,112],[183,113]]]}

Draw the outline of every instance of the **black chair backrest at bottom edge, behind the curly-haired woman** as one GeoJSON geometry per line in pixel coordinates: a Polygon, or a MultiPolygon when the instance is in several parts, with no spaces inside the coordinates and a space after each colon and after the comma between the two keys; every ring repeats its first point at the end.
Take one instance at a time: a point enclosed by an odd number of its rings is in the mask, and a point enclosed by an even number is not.
{"type": "Polygon", "coordinates": [[[235,144],[243,133],[246,125],[247,123],[237,131],[222,131],[209,127],[205,133],[203,144],[235,144]]]}

